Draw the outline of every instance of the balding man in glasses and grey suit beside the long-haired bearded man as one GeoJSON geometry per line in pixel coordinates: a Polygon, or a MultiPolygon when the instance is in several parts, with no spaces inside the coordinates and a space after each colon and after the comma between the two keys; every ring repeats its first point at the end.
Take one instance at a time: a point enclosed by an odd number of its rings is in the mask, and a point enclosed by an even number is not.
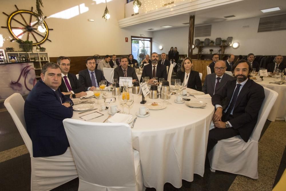
{"type": "Polygon", "coordinates": [[[204,79],[202,91],[205,94],[210,94],[212,97],[215,92],[219,91],[227,83],[227,81],[235,79],[229,74],[225,74],[226,68],[226,63],[223,60],[218,60],[215,63],[215,73],[206,75],[206,78],[204,79]]]}

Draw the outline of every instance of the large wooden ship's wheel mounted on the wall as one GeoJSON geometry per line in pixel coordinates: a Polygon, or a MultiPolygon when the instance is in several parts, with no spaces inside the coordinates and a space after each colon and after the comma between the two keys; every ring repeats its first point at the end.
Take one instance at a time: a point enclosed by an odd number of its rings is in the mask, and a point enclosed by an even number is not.
{"type": "Polygon", "coordinates": [[[7,19],[7,26],[5,27],[2,26],[2,28],[7,28],[10,34],[13,36],[13,39],[10,40],[11,42],[13,40],[18,40],[18,39],[21,41],[25,41],[22,39],[27,39],[27,40],[33,41],[34,46],[43,44],[46,40],[51,42],[51,40],[48,39],[48,36],[49,36],[49,30],[53,30],[53,29],[49,29],[45,21],[43,21],[43,25],[45,27],[44,32],[38,31],[38,29],[35,28],[35,26],[38,23],[37,22],[38,15],[37,13],[33,12],[33,7],[31,7],[31,11],[20,10],[18,9],[17,5],[15,5],[15,7],[17,11],[14,11],[10,15],[3,12],[3,14],[8,16],[8,19],[7,19]],[[26,19],[29,22],[27,22],[26,19]],[[22,32],[21,33],[18,32],[19,33],[18,34],[13,29],[19,29],[19,30],[22,30],[22,32]],[[19,37],[22,35],[23,37],[20,39],[19,37]],[[30,36],[32,36],[35,40],[29,39],[30,36]]]}

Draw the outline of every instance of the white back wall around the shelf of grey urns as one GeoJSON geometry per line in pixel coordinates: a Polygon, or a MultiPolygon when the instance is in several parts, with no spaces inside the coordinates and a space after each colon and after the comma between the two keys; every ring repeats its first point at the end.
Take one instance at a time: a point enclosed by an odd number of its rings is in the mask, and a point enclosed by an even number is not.
{"type": "MultiPolygon", "coordinates": [[[[256,55],[286,55],[286,31],[273,31],[258,33],[259,17],[241,19],[235,21],[225,21],[219,23],[212,23],[211,36],[198,37],[204,41],[205,38],[214,40],[217,37],[227,39],[232,36],[233,42],[238,41],[240,47],[233,49],[231,47],[226,48],[225,53],[232,53],[235,55],[246,55],[253,53],[256,55]],[[249,28],[242,28],[242,26],[249,25],[249,28]]],[[[169,29],[165,31],[154,31],[153,32],[153,51],[154,52],[168,52],[170,47],[177,46],[180,54],[187,54],[188,52],[188,27],[182,27],[178,29],[169,29]],[[159,50],[158,46],[162,44],[164,49],[159,50]]],[[[217,49],[213,47],[204,48],[204,53],[209,49],[214,49],[213,53],[217,52],[217,49]]],[[[197,53],[197,48],[194,49],[193,53],[197,53]]]]}

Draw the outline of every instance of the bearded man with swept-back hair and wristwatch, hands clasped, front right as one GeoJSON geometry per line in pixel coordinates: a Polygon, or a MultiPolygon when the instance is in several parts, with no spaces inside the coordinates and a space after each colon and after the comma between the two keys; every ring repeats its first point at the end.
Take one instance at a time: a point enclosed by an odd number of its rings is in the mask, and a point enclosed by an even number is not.
{"type": "Polygon", "coordinates": [[[212,96],[216,111],[213,115],[214,129],[208,134],[207,153],[221,139],[237,135],[247,142],[257,122],[258,112],[264,100],[264,89],[249,79],[252,67],[246,60],[237,61],[232,68],[236,80],[228,81],[212,96]],[[226,109],[222,101],[226,98],[226,109]]]}

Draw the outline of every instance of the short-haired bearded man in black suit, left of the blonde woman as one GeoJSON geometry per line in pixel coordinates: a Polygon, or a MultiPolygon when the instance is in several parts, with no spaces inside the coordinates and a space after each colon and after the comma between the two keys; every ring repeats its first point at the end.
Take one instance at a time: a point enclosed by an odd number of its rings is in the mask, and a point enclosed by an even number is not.
{"type": "Polygon", "coordinates": [[[149,83],[152,83],[153,77],[158,77],[158,79],[164,78],[165,80],[167,80],[167,68],[162,64],[158,64],[158,60],[159,55],[156,52],[153,52],[151,54],[152,64],[148,64],[143,68],[140,82],[142,82],[142,78],[144,78],[145,76],[150,77],[149,83]]]}

